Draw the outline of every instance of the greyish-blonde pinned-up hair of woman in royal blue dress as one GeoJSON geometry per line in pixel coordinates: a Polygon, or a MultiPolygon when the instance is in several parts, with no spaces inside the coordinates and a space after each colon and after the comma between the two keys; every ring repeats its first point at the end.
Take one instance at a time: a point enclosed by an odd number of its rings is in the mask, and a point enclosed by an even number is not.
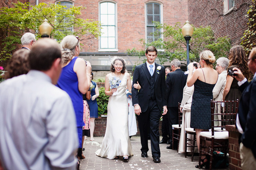
{"type": "Polygon", "coordinates": [[[62,48],[63,64],[66,64],[68,61],[70,61],[72,57],[76,54],[76,49],[75,49],[76,46],[80,48],[79,40],[72,35],[68,35],[64,37],[60,45],[62,48]]]}

